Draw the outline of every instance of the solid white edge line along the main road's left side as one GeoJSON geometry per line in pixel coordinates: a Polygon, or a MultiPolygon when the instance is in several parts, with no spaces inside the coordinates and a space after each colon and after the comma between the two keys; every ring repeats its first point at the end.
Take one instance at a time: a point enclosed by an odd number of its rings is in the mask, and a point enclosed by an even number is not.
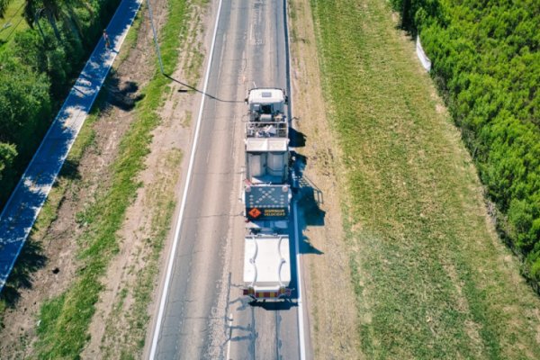
{"type": "Polygon", "coordinates": [[[206,98],[206,90],[208,87],[208,80],[210,78],[211,58],[213,57],[213,50],[214,50],[216,37],[218,33],[218,24],[220,21],[220,12],[221,12],[221,2],[222,0],[220,0],[220,4],[218,5],[218,13],[216,14],[216,23],[214,26],[213,37],[211,40],[208,66],[206,67],[206,75],[204,76],[204,86],[202,87],[201,107],[199,108],[199,116],[197,118],[197,125],[195,126],[195,135],[193,137],[193,145],[191,149],[191,156],[189,158],[187,176],[185,177],[184,194],[182,196],[182,204],[180,205],[180,214],[178,215],[178,218],[176,220],[175,239],[173,241],[173,247],[171,249],[171,253],[168,258],[168,264],[166,268],[166,277],[165,277],[165,287],[163,288],[163,292],[161,293],[161,301],[159,302],[159,311],[157,313],[156,329],[154,330],[154,336],[152,338],[152,347],[150,347],[150,355],[149,355],[150,360],[154,360],[156,357],[157,340],[159,339],[159,333],[161,331],[161,323],[163,321],[163,313],[165,311],[166,295],[168,293],[168,288],[171,282],[173,265],[175,264],[176,248],[178,247],[178,241],[179,241],[180,232],[182,229],[182,220],[184,219],[185,201],[187,199],[187,193],[189,192],[189,184],[191,183],[195,150],[197,149],[197,142],[199,139],[199,130],[201,129],[202,110],[204,108],[204,100],[206,98]]]}

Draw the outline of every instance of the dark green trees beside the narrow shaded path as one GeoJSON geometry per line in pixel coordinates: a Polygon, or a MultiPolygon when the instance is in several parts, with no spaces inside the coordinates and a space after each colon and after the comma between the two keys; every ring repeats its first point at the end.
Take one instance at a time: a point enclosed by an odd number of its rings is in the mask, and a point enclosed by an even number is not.
{"type": "MultiPolygon", "coordinates": [[[[9,0],[0,0],[0,16],[9,0]]],[[[120,0],[26,0],[30,29],[0,42],[0,207],[120,0]]]]}

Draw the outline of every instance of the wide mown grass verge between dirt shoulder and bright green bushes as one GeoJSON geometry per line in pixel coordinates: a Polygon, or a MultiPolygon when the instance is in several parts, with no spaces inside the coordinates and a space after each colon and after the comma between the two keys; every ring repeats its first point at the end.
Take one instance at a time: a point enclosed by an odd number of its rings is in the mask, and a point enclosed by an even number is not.
{"type": "Polygon", "coordinates": [[[540,302],[473,163],[377,0],[311,0],[367,358],[539,358],[540,302]]]}

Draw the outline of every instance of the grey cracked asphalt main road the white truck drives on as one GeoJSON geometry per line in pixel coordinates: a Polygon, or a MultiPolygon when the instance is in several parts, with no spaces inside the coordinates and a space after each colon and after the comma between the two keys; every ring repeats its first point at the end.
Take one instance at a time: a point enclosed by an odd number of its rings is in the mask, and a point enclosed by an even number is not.
{"type": "Polygon", "coordinates": [[[158,359],[300,358],[295,300],[251,306],[239,288],[243,99],[255,85],[286,88],[284,16],[283,0],[222,2],[158,359]]]}

